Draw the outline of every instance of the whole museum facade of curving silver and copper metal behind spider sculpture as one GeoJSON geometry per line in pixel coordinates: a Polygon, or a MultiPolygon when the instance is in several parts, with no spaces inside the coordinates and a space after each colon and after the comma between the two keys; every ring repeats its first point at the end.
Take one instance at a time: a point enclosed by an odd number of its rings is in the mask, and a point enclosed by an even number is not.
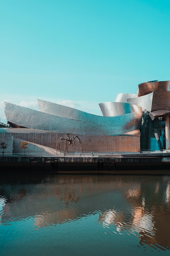
{"type": "MultiPolygon", "coordinates": [[[[155,123],[152,119],[169,114],[169,81],[151,81],[138,87],[138,94],[118,94],[115,102],[99,103],[103,116],[40,99],[39,111],[5,102],[5,115],[13,128],[0,128],[0,134],[52,149],[56,149],[57,141],[61,137],[65,139],[67,133],[77,135],[85,153],[139,152],[147,147],[149,150],[154,134],[157,134],[155,139],[164,136],[161,132],[154,133],[162,126],[158,119],[153,120],[155,123]],[[153,135],[149,135],[152,132],[146,127],[153,130],[153,135]]],[[[79,151],[79,145],[75,151],[79,151]]]]}

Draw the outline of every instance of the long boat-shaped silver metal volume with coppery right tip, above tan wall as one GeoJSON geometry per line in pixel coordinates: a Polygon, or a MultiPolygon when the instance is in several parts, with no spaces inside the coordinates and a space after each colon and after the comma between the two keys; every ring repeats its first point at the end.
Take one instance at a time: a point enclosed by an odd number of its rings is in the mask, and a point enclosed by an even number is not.
{"type": "Polygon", "coordinates": [[[116,117],[95,116],[84,112],[78,119],[73,119],[73,116],[76,117],[76,111],[69,117],[61,117],[5,102],[5,115],[13,127],[100,136],[120,135],[139,129],[142,110],[138,108],[136,112],[116,117]]]}

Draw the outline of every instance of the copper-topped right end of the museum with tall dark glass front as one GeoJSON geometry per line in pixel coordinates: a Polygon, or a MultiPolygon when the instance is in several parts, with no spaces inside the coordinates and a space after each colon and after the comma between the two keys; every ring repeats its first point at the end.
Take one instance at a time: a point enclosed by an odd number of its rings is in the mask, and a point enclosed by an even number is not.
{"type": "MultiPolygon", "coordinates": [[[[142,107],[141,150],[163,150],[170,147],[169,81],[150,81],[139,84],[138,98],[142,107]],[[140,99],[145,99],[144,104],[140,99]],[[149,102],[150,101],[150,102],[149,102]],[[144,110],[145,108],[145,110],[144,110]]],[[[130,103],[134,101],[129,100],[130,103]]]]}

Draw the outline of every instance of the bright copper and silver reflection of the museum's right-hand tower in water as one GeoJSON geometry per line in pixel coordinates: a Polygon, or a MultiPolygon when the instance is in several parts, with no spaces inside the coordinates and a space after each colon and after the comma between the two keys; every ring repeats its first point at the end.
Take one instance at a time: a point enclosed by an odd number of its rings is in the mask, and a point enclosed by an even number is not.
{"type": "Polygon", "coordinates": [[[128,211],[104,211],[99,223],[114,225],[117,233],[135,234],[140,245],[170,249],[170,182],[157,182],[152,188],[141,183],[126,190],[124,198],[132,204],[130,216],[128,211]]]}

